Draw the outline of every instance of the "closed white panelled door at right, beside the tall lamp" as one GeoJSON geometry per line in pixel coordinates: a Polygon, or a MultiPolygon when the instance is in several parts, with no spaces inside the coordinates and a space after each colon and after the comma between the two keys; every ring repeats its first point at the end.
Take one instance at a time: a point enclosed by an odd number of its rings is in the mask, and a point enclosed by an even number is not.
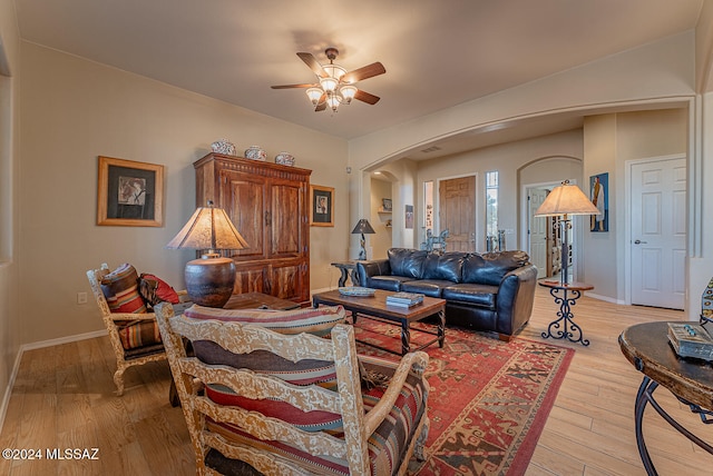
{"type": "Polygon", "coordinates": [[[632,166],[632,304],[683,309],[686,161],[632,166]]]}

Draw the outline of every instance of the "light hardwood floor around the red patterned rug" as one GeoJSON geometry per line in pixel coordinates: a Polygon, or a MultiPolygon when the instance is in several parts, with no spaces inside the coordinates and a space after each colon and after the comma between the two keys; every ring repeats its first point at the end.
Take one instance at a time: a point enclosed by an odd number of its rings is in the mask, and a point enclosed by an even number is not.
{"type": "MultiPolygon", "coordinates": [[[[683,313],[617,306],[585,296],[573,309],[592,341],[583,347],[540,337],[556,310],[549,294],[538,288],[533,317],[520,334],[576,349],[527,475],[644,475],[634,437],[634,397],[642,376],[622,356],[617,337],[631,325],[681,320],[683,313]]],[[[107,338],[26,353],[0,447],[39,449],[42,459],[0,460],[0,474],[195,474],[183,414],[168,404],[168,365],[153,363],[127,370],[123,397],[114,395],[115,367],[107,338]],[[49,460],[48,448],[87,448],[90,454],[98,448],[98,459],[49,460]]],[[[701,424],[671,394],[660,388],[656,396],[675,418],[713,442],[713,428],[701,424]]],[[[713,475],[712,455],[651,408],[646,413],[646,442],[662,476],[713,475]]]]}

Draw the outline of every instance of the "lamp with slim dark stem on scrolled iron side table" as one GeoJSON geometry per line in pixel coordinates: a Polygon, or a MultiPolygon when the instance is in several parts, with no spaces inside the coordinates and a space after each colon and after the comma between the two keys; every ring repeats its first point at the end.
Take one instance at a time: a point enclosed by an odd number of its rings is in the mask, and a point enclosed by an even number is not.
{"type": "Polygon", "coordinates": [[[572,228],[569,215],[599,215],[597,207],[587,198],[576,185],[569,185],[569,180],[561,182],[549,192],[543,205],[535,211],[536,217],[561,216],[561,284],[566,285],[568,276],[569,244],[567,231],[572,228]]]}

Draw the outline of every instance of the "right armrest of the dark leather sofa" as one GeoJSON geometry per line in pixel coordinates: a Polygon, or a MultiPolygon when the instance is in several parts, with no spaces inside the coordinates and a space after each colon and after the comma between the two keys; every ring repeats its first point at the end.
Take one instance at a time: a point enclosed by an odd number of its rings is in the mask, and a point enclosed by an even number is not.
{"type": "Polygon", "coordinates": [[[511,336],[530,318],[537,285],[537,267],[527,265],[505,275],[497,297],[497,331],[511,336]]]}

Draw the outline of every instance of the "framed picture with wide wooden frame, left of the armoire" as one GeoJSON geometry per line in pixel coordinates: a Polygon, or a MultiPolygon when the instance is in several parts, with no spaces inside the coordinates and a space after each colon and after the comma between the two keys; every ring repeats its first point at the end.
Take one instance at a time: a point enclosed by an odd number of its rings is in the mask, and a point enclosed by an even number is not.
{"type": "Polygon", "coordinates": [[[97,225],[162,227],[164,166],[99,157],[97,225]]]}

